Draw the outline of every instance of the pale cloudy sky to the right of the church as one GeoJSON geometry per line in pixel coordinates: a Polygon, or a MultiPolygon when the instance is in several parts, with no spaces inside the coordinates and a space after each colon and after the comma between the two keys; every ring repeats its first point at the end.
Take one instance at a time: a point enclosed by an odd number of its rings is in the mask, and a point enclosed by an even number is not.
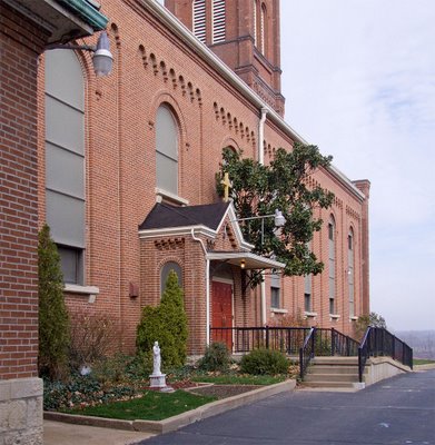
{"type": "Polygon", "coordinates": [[[372,182],[372,310],[435,329],[435,0],[280,7],[286,121],[372,182]]]}

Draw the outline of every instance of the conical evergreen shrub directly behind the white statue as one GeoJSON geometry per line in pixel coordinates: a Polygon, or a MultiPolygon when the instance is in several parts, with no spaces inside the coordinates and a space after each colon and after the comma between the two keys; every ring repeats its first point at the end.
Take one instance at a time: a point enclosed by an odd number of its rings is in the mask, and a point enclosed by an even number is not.
{"type": "Polygon", "coordinates": [[[187,356],[187,333],[182,290],[178,285],[177,274],[171,270],[160,304],[142,309],[136,337],[138,354],[150,356],[154,343],[158,342],[162,366],[182,366],[187,356]]]}

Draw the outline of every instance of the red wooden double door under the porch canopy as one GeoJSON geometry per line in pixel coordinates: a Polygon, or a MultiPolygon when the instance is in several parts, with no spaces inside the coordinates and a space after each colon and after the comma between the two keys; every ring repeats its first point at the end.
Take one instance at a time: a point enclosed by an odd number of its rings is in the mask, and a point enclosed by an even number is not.
{"type": "Polygon", "coordinates": [[[211,327],[212,340],[227,345],[233,350],[233,285],[211,281],[211,327]],[[227,329],[226,329],[227,328],[227,329]]]}

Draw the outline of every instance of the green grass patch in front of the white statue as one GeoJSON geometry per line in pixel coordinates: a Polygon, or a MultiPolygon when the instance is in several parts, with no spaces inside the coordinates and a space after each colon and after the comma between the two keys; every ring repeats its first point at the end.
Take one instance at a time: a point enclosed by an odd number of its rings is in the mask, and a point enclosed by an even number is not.
{"type": "Polygon", "coordinates": [[[217,400],[217,398],[198,396],[184,390],[176,390],[175,393],[148,390],[144,393],[141,398],[70,409],[65,413],[125,421],[161,421],[214,400],[217,400]]]}

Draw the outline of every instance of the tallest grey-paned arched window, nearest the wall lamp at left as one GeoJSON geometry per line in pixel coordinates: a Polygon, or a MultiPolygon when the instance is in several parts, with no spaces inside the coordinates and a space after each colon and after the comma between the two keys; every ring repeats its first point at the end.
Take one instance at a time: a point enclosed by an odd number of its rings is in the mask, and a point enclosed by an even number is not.
{"type": "Polygon", "coordinates": [[[46,52],[46,214],[65,283],[83,284],[85,80],[73,51],[46,52]]]}

